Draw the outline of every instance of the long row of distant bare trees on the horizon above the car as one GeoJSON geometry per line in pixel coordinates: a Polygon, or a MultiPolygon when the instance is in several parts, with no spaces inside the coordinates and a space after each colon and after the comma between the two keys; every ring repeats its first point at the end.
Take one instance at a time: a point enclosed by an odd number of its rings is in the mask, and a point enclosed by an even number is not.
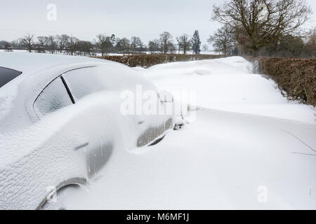
{"type": "MultiPolygon", "coordinates": [[[[0,49],[6,51],[11,50],[28,50],[29,52],[49,52],[51,54],[64,53],[67,55],[96,55],[97,53],[104,56],[108,53],[125,54],[145,54],[150,52],[156,53],[174,53],[192,50],[196,55],[201,52],[201,41],[199,39],[199,31],[195,31],[192,37],[183,34],[173,41],[173,36],[164,31],[159,38],[149,41],[147,45],[138,36],[131,38],[118,38],[114,34],[107,36],[106,34],[98,34],[94,41],[81,41],[75,36],[67,34],[56,36],[37,36],[34,34],[26,34],[22,38],[15,41],[0,41],[0,49]]],[[[207,45],[204,45],[207,50],[207,45]]]]}

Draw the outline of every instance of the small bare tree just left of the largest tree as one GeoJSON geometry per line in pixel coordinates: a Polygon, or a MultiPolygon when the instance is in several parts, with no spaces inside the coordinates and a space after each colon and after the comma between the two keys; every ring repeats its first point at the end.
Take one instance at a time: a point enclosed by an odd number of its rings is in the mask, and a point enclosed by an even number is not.
{"type": "Polygon", "coordinates": [[[209,37],[208,42],[213,43],[216,52],[230,55],[235,43],[234,31],[228,25],[224,25],[209,37]]]}

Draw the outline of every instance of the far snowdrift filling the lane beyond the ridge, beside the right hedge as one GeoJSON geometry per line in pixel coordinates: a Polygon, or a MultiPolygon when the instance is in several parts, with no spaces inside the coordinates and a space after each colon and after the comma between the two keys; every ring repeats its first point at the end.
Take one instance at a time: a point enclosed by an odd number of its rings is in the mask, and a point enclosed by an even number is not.
{"type": "Polygon", "coordinates": [[[252,73],[242,57],[159,64],[143,71],[169,92],[194,91],[197,105],[315,124],[310,106],[289,102],[273,80],[252,73]]]}

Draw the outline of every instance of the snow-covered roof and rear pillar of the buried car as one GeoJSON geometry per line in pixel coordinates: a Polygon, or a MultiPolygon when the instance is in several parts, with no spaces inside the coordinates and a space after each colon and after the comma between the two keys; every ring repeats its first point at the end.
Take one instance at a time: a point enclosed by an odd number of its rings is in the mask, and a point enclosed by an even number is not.
{"type": "MultiPolygon", "coordinates": [[[[118,80],[117,73],[129,77],[129,72],[136,72],[129,66],[104,59],[20,52],[0,52],[0,66],[23,72],[0,88],[0,134],[34,122],[33,113],[29,113],[34,100],[53,78],[62,73],[83,68],[106,69],[110,80],[118,80]]],[[[130,82],[123,78],[119,83],[128,85],[130,82]]]]}

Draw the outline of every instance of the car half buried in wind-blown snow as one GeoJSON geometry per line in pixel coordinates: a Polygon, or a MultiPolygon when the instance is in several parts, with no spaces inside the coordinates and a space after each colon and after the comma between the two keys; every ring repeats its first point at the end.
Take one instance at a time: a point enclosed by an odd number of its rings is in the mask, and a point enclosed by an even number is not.
{"type": "Polygon", "coordinates": [[[0,66],[0,209],[41,209],[52,188],[84,185],[115,151],[157,144],[174,126],[172,114],[121,113],[122,92],[138,87],[159,109],[173,104],[128,66],[14,52],[0,66]]]}

